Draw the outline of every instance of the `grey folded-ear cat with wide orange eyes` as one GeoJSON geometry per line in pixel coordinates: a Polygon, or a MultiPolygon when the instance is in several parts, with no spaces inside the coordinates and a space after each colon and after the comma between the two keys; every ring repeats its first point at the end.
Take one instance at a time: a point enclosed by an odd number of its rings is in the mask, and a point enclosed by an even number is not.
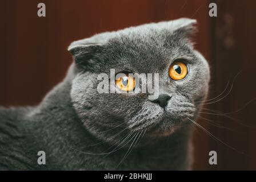
{"type": "Polygon", "coordinates": [[[180,18],[71,43],[74,63],[41,104],[1,107],[0,169],[191,169],[189,119],[197,119],[210,80],[191,40],[196,23],[180,18]],[[97,76],[113,68],[158,73],[159,97],[99,93],[97,76]],[[45,164],[39,165],[38,151],[45,164]]]}

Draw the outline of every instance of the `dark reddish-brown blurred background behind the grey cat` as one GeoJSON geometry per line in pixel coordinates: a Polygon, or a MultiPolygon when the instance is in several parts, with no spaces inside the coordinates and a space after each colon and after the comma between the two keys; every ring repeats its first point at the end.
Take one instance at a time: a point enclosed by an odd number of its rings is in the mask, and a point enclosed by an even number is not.
{"type": "MultiPolygon", "coordinates": [[[[209,98],[218,96],[229,79],[234,80],[233,88],[225,98],[205,105],[205,108],[222,113],[242,109],[227,116],[202,115],[211,121],[199,119],[198,123],[226,144],[214,140],[197,127],[193,139],[194,169],[255,170],[256,101],[243,108],[256,93],[255,6],[253,0],[2,0],[0,105],[38,104],[65,76],[72,62],[66,49],[74,40],[142,23],[194,18],[198,20],[199,28],[196,47],[211,65],[209,98]],[[46,4],[44,18],[37,16],[40,2],[46,4]],[[218,6],[215,18],[208,15],[210,2],[218,6]],[[218,154],[215,166],[208,163],[211,150],[218,154]]],[[[209,110],[203,112],[213,113],[209,110]]]]}

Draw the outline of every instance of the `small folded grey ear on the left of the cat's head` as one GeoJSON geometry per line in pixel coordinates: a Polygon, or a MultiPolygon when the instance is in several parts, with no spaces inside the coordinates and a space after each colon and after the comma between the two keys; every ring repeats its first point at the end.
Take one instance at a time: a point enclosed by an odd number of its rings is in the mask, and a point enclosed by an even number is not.
{"type": "Polygon", "coordinates": [[[78,40],[70,44],[68,51],[73,55],[75,64],[80,71],[94,71],[100,61],[102,45],[89,43],[87,39],[78,40]]]}

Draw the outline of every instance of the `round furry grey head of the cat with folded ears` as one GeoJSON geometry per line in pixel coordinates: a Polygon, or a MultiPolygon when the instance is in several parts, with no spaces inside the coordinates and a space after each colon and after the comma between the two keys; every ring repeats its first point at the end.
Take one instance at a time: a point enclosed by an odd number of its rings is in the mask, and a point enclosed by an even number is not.
{"type": "MultiPolygon", "coordinates": [[[[193,49],[188,35],[195,20],[179,19],[99,34],[71,44],[78,74],[71,98],[87,130],[101,139],[119,141],[147,130],[171,134],[194,118],[207,94],[209,66],[193,49]],[[181,63],[187,73],[172,78],[170,67],[181,63]],[[158,73],[159,97],[149,93],[99,93],[100,73],[158,73]]],[[[176,69],[178,73],[181,68],[176,69]]],[[[175,70],[175,69],[174,69],[175,70]]],[[[153,74],[154,77],[154,74],[153,74]]]]}

